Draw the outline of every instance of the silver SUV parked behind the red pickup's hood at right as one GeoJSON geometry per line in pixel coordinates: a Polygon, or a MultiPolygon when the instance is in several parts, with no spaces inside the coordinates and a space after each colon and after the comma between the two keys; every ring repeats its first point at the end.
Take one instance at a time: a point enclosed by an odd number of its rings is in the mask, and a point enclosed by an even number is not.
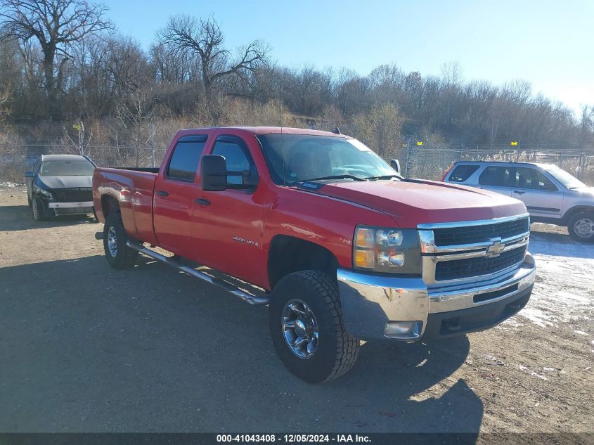
{"type": "Polygon", "coordinates": [[[531,221],[567,226],[574,240],[594,243],[594,187],[556,165],[456,162],[442,181],[517,198],[526,205],[531,221]]]}

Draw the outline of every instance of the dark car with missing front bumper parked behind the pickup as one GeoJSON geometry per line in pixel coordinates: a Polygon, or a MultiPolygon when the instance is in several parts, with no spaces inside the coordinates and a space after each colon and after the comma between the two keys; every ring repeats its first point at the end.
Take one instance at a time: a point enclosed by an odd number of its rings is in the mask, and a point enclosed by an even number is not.
{"type": "Polygon", "coordinates": [[[87,156],[41,155],[32,171],[25,172],[33,219],[93,213],[91,179],[95,167],[87,156]]]}

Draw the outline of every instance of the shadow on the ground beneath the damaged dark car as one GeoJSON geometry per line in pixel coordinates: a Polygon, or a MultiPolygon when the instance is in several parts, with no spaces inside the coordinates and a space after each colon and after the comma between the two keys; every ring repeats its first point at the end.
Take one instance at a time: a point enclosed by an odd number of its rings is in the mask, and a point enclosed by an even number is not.
{"type": "Polygon", "coordinates": [[[32,228],[49,228],[91,224],[96,222],[93,214],[62,215],[47,221],[35,221],[31,209],[27,205],[0,206],[0,231],[30,230],[32,228]]]}

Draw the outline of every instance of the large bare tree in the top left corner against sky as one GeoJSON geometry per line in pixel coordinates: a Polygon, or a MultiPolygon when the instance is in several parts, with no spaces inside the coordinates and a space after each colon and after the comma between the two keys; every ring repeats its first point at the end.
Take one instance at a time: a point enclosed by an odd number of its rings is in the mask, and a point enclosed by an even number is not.
{"type": "Polygon", "coordinates": [[[0,0],[0,38],[37,39],[43,53],[45,90],[53,117],[69,49],[89,34],[111,30],[105,6],[85,0],[0,0]]]}

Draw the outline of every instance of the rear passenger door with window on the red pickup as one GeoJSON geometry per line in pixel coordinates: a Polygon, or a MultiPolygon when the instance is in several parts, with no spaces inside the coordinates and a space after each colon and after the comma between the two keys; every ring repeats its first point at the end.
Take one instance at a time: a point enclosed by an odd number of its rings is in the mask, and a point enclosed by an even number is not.
{"type": "Polygon", "coordinates": [[[155,180],[153,221],[160,247],[191,257],[192,212],[201,192],[196,183],[206,135],[181,136],[155,180]]]}

